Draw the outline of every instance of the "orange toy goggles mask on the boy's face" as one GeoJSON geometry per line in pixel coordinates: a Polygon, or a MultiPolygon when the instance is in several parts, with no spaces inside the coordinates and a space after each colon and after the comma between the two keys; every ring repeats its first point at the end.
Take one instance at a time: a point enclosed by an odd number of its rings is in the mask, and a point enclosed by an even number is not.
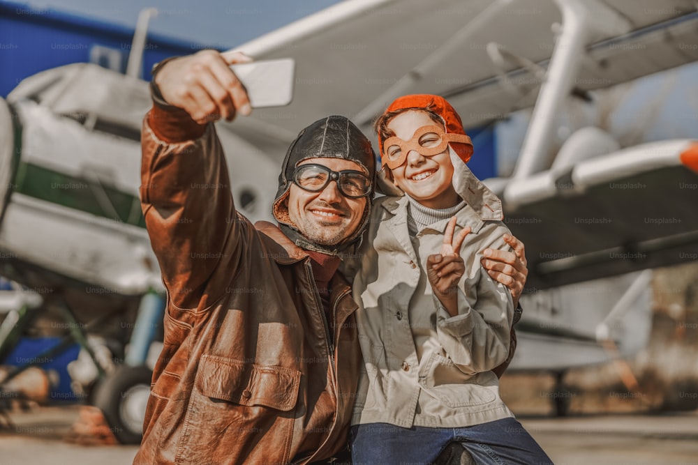
{"type": "Polygon", "coordinates": [[[473,145],[470,137],[464,134],[447,134],[437,125],[422,126],[408,141],[397,136],[388,137],[383,142],[381,165],[395,169],[407,160],[408,153],[413,150],[425,157],[433,157],[445,151],[449,142],[473,145]]]}

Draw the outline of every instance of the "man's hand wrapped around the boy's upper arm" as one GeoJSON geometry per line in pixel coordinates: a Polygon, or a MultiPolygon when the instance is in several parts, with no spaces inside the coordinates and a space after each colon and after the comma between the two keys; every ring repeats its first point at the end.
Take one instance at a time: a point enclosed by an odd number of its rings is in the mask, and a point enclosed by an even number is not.
{"type": "Polygon", "coordinates": [[[501,282],[509,288],[512,298],[514,298],[514,306],[516,306],[528,276],[526,250],[524,250],[523,243],[512,234],[505,234],[504,241],[511,245],[513,252],[485,249],[482,251],[481,263],[493,280],[501,282]]]}

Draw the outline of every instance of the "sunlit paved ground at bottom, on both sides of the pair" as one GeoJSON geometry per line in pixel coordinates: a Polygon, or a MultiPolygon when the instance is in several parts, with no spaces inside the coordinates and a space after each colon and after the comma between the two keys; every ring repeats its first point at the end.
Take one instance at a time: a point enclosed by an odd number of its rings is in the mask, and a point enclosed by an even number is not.
{"type": "MultiPolygon", "coordinates": [[[[66,443],[77,415],[74,406],[12,413],[15,427],[0,432],[0,463],[131,464],[134,446],[66,443]]],[[[519,420],[557,465],[698,465],[698,412],[519,420]]]]}

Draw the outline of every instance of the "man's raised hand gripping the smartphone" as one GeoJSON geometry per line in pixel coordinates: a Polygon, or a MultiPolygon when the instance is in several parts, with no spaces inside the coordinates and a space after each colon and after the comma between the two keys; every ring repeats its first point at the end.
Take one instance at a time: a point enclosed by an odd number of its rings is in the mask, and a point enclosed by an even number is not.
{"type": "Polygon", "coordinates": [[[250,114],[247,92],[228,66],[252,61],[240,52],[202,50],[165,63],[154,79],[165,102],[184,109],[197,123],[250,114]]]}

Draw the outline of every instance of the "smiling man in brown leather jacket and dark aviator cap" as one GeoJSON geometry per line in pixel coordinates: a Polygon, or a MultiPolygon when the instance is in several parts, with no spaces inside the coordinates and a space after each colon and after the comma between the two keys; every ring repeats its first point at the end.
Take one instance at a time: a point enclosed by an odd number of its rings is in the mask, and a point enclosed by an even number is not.
{"type": "MultiPolygon", "coordinates": [[[[251,224],[210,124],[251,111],[228,68],[243,61],[204,51],[154,75],[141,199],[168,305],[135,464],[305,464],[346,443],[362,359],[336,270],[369,218],[373,151],[348,119],[316,121],[283,162],[279,226],[251,224]]],[[[525,262],[494,252],[518,298],[525,262]]]]}

